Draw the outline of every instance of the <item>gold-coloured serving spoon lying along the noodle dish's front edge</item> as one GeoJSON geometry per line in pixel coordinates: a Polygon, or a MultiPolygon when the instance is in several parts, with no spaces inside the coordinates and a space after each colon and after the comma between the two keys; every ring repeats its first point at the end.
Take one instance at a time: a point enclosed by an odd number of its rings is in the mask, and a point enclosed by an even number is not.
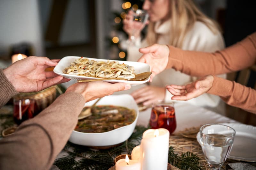
{"type": "Polygon", "coordinates": [[[102,81],[102,80],[129,80],[129,81],[139,81],[139,80],[144,80],[148,78],[152,74],[151,71],[148,72],[143,72],[140,74],[136,74],[135,78],[100,78],[100,79],[86,79],[86,80],[77,80],[78,82],[89,82],[89,81],[102,81]]]}

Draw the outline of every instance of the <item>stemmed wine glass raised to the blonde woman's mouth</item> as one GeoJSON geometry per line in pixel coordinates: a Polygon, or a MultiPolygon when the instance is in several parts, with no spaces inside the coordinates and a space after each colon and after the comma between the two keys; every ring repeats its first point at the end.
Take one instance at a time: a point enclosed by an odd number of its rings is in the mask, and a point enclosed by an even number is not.
{"type": "Polygon", "coordinates": [[[140,31],[146,26],[148,20],[148,13],[145,10],[137,9],[133,11],[132,18],[132,35],[130,36],[132,44],[135,45],[135,37],[139,36],[140,31]]]}

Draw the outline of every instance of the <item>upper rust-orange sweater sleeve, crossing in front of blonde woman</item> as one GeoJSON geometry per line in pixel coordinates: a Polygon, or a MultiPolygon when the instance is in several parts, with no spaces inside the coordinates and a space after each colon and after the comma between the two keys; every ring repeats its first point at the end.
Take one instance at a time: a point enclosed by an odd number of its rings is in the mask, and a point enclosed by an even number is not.
{"type": "Polygon", "coordinates": [[[169,46],[166,68],[174,68],[192,76],[223,74],[242,70],[256,62],[256,32],[233,46],[215,53],[183,51],[169,46]]]}

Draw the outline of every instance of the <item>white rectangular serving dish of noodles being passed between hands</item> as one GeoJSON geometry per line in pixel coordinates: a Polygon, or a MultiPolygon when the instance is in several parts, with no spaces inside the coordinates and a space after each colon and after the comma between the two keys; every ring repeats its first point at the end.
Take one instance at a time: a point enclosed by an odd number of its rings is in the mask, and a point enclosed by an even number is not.
{"type": "MultiPolygon", "coordinates": [[[[55,66],[55,68],[53,69],[53,72],[55,72],[56,74],[63,76],[65,78],[71,78],[71,79],[100,79],[100,78],[94,78],[94,77],[86,77],[86,76],[76,76],[76,75],[69,75],[69,74],[64,74],[62,70],[64,70],[66,67],[70,66],[70,63],[72,63],[73,61],[75,61],[75,59],[77,58],[81,58],[78,56],[66,56],[63,57],[60,62],[55,66]]],[[[88,58],[88,57],[86,57],[88,58]]],[[[95,61],[108,61],[106,59],[98,59],[98,58],[88,58],[89,60],[95,60],[95,61]]],[[[118,60],[109,60],[109,61],[116,61],[119,63],[124,63],[127,64],[129,66],[133,66],[134,67],[134,73],[135,74],[139,74],[142,72],[147,72],[150,71],[150,66],[146,63],[140,63],[140,62],[131,62],[131,61],[118,61],[118,60]]],[[[130,80],[104,80],[107,82],[124,82],[124,83],[128,83],[130,85],[140,85],[143,83],[148,82],[150,79],[150,76],[143,81],[130,81],[130,80]]]]}

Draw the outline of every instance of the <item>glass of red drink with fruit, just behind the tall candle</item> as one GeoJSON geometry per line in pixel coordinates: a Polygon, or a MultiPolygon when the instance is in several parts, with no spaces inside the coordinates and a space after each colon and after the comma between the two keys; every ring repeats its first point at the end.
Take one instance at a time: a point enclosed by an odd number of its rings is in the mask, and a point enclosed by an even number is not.
{"type": "Polygon", "coordinates": [[[153,105],[149,125],[152,129],[165,128],[170,134],[176,129],[173,103],[158,102],[153,105]]]}

